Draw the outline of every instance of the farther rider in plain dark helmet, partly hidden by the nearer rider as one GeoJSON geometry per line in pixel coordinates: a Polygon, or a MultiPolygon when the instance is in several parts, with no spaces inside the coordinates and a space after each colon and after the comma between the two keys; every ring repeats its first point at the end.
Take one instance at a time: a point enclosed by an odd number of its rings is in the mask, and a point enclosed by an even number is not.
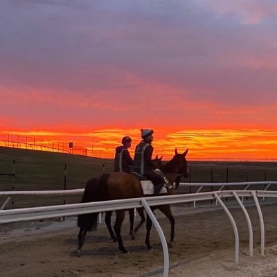
{"type": "Polygon", "coordinates": [[[129,136],[124,136],[121,140],[122,145],[116,148],[114,157],[114,171],[131,172],[134,165],[129,154],[128,148],[131,147],[132,139],[129,136]]]}

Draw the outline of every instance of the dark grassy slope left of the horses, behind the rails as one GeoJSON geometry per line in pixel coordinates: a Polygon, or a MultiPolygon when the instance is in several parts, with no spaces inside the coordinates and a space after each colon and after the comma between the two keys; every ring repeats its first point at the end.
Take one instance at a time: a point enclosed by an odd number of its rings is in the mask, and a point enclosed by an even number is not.
{"type": "MultiPolygon", "coordinates": [[[[66,189],[84,188],[85,183],[103,171],[113,169],[113,161],[79,155],[0,148],[0,173],[12,173],[15,160],[15,190],[63,190],[66,163],[66,189]]],[[[0,175],[0,190],[12,190],[12,176],[0,175]]],[[[62,196],[16,196],[15,207],[62,204],[62,196]]],[[[0,205],[5,197],[0,197],[0,205]]],[[[80,202],[80,195],[66,196],[67,203],[80,202]]],[[[7,207],[8,208],[8,207],[7,207]]]]}

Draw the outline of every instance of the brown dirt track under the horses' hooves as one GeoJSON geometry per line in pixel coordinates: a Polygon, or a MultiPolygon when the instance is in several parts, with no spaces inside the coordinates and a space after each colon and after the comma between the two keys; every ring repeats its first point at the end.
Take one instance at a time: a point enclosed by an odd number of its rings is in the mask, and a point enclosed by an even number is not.
{"type": "MultiPolygon", "coordinates": [[[[249,239],[244,215],[238,208],[231,209],[240,235],[239,265],[234,263],[233,229],[220,208],[210,211],[209,208],[178,207],[174,210],[176,242],[169,248],[170,276],[277,276],[277,205],[262,206],[266,242],[264,258],[258,253],[260,222],[256,208],[247,208],[253,225],[253,258],[248,257],[249,239]]],[[[168,238],[168,221],[159,213],[157,216],[168,238]]],[[[1,276],[162,276],[163,251],[154,229],[151,234],[154,250],[147,251],[144,246],[145,226],[132,241],[127,235],[129,224],[126,218],[123,240],[130,253],[122,254],[118,252],[117,244],[109,240],[105,224],[100,224],[98,231],[89,233],[82,256],[77,258],[74,251],[78,228],[74,225],[75,220],[72,219],[55,222],[55,225],[47,222],[29,224],[28,227],[16,224],[17,231],[13,233],[10,225],[2,225],[1,276]],[[66,224],[68,228],[57,229],[57,226],[61,228],[66,224]]]]}

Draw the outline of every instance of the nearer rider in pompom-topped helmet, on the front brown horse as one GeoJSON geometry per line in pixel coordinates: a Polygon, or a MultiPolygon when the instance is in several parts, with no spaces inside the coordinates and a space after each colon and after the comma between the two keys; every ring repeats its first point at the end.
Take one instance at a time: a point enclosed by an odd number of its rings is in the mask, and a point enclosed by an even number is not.
{"type": "Polygon", "coordinates": [[[163,178],[159,176],[159,169],[152,163],[152,154],[154,150],[152,146],[153,133],[154,131],[152,129],[141,129],[142,141],[136,145],[134,172],[152,181],[154,185],[154,195],[158,195],[163,187],[164,181],[163,178]]]}

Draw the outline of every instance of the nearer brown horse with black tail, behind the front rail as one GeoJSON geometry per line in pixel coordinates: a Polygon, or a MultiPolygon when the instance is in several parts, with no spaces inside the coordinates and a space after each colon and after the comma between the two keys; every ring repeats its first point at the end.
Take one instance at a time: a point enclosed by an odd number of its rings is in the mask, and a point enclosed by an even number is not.
{"type": "MultiPolygon", "coordinates": [[[[175,149],[175,156],[172,157],[168,163],[162,167],[162,172],[166,177],[166,195],[172,195],[174,193],[175,181],[179,181],[181,176],[188,177],[186,154],[188,149],[179,154],[175,149]]],[[[145,197],[139,179],[132,174],[125,172],[111,172],[109,174],[103,174],[98,179],[94,178],[87,182],[82,196],[82,203],[84,202],[98,202],[105,200],[115,199],[128,199],[145,197]]],[[[159,208],[159,210],[168,217],[171,224],[170,241],[174,240],[175,237],[175,220],[172,216],[172,212],[169,205],[152,206],[151,209],[159,208]]],[[[84,239],[87,235],[87,231],[93,229],[93,226],[97,224],[98,213],[90,213],[84,215],[78,215],[78,227],[80,231],[78,234],[78,249],[77,255],[80,256],[80,251],[84,245],[84,239]]],[[[118,248],[123,253],[128,251],[123,246],[123,240],[121,238],[121,225],[125,216],[124,210],[116,211],[116,222],[114,224],[114,231],[118,241],[118,248]]],[[[147,217],[146,224],[146,237],[145,244],[148,249],[152,249],[150,245],[150,231],[152,229],[152,221],[150,217],[147,217]]]]}

